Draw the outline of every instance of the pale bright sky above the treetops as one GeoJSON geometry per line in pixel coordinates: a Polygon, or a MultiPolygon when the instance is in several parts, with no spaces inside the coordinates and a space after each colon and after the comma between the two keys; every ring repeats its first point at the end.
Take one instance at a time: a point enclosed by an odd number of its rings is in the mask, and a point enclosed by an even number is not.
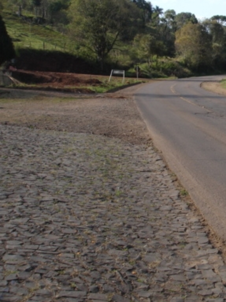
{"type": "Polygon", "coordinates": [[[167,9],[174,9],[177,14],[189,12],[202,20],[215,15],[226,15],[226,0],[150,0],[151,4],[167,9]]]}

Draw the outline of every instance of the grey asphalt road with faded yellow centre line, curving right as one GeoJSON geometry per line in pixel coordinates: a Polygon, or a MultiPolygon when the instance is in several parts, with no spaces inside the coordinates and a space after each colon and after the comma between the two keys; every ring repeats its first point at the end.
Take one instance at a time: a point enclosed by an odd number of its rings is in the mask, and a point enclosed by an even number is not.
{"type": "Polygon", "coordinates": [[[226,97],[200,88],[222,76],[158,81],[136,94],[154,145],[213,230],[226,240],[226,97]]]}

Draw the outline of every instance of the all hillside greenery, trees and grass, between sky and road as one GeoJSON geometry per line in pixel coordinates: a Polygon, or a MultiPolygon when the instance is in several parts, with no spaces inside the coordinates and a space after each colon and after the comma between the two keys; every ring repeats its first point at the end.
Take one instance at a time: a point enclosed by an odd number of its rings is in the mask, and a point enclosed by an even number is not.
{"type": "Polygon", "coordinates": [[[123,69],[139,78],[226,70],[222,15],[199,21],[146,0],[2,0],[0,14],[20,69],[101,75],[123,69]]]}

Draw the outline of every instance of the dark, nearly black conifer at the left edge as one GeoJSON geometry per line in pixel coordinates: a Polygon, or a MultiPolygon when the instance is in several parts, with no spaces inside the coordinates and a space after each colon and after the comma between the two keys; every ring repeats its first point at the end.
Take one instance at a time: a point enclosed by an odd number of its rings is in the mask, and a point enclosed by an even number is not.
{"type": "Polygon", "coordinates": [[[10,59],[13,59],[16,54],[14,51],[13,43],[11,41],[11,38],[9,37],[5,23],[2,20],[2,17],[0,16],[0,65],[4,63],[5,61],[8,61],[10,59]]]}

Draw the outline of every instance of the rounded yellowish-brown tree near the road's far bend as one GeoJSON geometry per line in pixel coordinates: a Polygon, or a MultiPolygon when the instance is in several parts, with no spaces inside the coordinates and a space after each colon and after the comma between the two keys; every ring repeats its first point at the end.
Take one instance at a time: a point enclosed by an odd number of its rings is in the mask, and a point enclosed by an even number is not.
{"type": "Polygon", "coordinates": [[[202,24],[185,24],[176,32],[175,45],[189,68],[203,71],[212,67],[211,36],[202,24]]]}

